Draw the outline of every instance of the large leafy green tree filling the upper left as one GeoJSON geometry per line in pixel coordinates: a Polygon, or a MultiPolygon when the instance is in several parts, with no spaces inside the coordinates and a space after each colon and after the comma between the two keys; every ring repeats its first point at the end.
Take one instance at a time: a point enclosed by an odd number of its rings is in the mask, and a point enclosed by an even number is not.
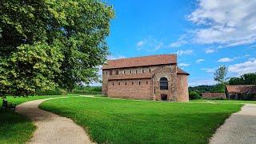
{"type": "Polygon", "coordinates": [[[111,18],[112,6],[99,0],[2,0],[1,94],[97,81],[111,18]]]}

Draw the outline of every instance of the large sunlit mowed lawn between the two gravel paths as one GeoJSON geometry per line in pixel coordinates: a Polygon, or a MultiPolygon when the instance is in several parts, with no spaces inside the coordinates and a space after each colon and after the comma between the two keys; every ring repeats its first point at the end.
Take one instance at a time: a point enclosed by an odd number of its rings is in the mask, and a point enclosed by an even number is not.
{"type": "Polygon", "coordinates": [[[74,119],[98,143],[207,143],[242,104],[61,98],[40,108],[74,119]]]}

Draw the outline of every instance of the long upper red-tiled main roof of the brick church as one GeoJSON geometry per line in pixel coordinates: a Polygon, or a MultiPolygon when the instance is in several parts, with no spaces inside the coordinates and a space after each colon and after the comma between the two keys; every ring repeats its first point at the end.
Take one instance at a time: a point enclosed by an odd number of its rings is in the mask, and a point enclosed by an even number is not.
{"type": "Polygon", "coordinates": [[[138,67],[138,66],[155,66],[155,65],[175,64],[175,63],[177,63],[176,54],[160,54],[160,55],[151,55],[146,57],[108,60],[106,62],[106,65],[102,66],[102,70],[118,69],[118,68],[126,68],[126,67],[138,67]]]}

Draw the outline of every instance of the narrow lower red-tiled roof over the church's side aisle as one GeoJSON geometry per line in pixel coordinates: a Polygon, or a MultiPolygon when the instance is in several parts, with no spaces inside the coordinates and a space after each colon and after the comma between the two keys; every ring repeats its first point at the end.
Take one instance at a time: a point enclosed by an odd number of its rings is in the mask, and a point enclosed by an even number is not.
{"type": "Polygon", "coordinates": [[[120,79],[144,79],[152,78],[153,74],[116,74],[110,75],[109,80],[120,80],[120,79]]]}

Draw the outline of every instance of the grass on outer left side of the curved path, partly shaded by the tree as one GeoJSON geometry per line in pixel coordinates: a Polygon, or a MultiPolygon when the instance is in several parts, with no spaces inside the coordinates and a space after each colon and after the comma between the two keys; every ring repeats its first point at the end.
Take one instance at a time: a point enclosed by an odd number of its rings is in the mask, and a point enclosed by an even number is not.
{"type": "MultiPolygon", "coordinates": [[[[53,97],[58,96],[7,97],[7,101],[18,105],[22,102],[53,97]]],[[[0,106],[2,107],[1,98],[0,106]]],[[[0,143],[25,143],[31,138],[34,130],[35,126],[28,118],[21,114],[13,113],[10,110],[7,112],[0,110],[0,143]]]]}

